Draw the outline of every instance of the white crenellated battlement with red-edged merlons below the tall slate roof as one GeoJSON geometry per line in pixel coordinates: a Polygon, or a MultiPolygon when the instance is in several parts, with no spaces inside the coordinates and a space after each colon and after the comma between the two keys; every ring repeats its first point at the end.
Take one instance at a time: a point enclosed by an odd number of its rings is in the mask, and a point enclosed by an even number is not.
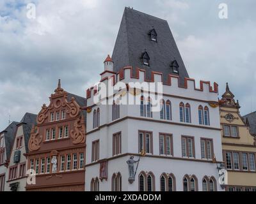
{"type": "MultiPolygon", "coordinates": [[[[152,71],[150,80],[147,80],[144,69],[136,68],[134,75],[132,75],[132,71],[133,70],[131,66],[124,67],[120,69],[120,71],[118,71],[117,73],[113,71],[104,71],[102,74],[100,74],[102,77],[100,82],[108,84],[110,80],[112,86],[114,86],[118,82],[124,82],[124,84],[129,84],[132,82],[134,83],[135,82],[140,82],[140,83],[161,82],[163,83],[163,94],[170,94],[170,95],[174,94],[175,96],[182,96],[182,97],[189,97],[189,98],[196,97],[198,99],[204,99],[204,100],[209,99],[209,100],[217,101],[218,84],[216,84],[216,82],[214,82],[214,84],[211,85],[211,82],[209,81],[200,80],[200,83],[197,87],[195,79],[185,78],[184,86],[181,86],[179,83],[180,78],[179,76],[176,76],[176,75],[168,75],[167,82],[163,82],[163,73],[152,71]]],[[[95,96],[97,92],[98,92],[97,85],[95,87],[90,87],[90,89],[87,89],[86,91],[86,98],[91,98],[95,96]]]]}

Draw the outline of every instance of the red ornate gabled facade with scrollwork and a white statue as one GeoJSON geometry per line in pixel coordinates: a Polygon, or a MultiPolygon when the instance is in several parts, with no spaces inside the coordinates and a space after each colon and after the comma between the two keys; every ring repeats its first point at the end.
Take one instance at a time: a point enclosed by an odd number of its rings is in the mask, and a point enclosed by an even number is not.
{"type": "Polygon", "coordinates": [[[36,184],[27,191],[84,191],[86,99],[64,91],[60,80],[50,104],[42,106],[31,129],[28,170],[36,184]]]}

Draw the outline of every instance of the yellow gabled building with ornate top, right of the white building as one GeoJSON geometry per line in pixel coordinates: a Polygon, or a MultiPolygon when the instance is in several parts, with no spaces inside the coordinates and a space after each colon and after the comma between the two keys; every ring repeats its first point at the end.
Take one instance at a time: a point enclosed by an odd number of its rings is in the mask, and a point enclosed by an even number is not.
{"type": "Polygon", "coordinates": [[[220,100],[223,158],[228,171],[227,191],[256,191],[256,140],[239,113],[239,102],[228,84],[220,100]]]}

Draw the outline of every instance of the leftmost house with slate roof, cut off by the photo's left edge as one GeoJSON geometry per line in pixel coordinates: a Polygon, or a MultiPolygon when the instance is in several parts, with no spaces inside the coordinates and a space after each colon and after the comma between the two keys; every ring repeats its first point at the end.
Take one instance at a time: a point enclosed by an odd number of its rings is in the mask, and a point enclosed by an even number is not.
{"type": "Polygon", "coordinates": [[[6,171],[8,170],[8,161],[10,161],[17,124],[19,122],[12,122],[0,133],[0,191],[4,191],[6,171]]]}

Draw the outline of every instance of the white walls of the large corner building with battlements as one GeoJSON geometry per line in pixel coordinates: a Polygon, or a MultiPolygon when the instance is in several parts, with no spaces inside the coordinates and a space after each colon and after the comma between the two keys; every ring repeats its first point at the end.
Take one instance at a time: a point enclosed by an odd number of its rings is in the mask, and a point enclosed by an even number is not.
{"type": "MultiPolygon", "coordinates": [[[[115,80],[128,84],[129,82],[145,82],[144,71],[138,72],[137,78],[131,77],[131,68],[125,68],[119,73],[104,72],[101,75],[102,82],[108,84],[108,80],[115,80]],[[124,72],[123,72],[124,71],[124,72]]],[[[91,112],[86,119],[86,175],[85,189],[91,191],[92,179],[99,178],[100,161],[108,161],[108,180],[99,181],[99,191],[111,191],[113,173],[122,175],[122,191],[138,191],[139,175],[141,171],[146,174],[152,172],[154,175],[153,190],[160,191],[160,177],[163,173],[172,173],[175,177],[175,190],[183,191],[183,179],[185,175],[189,177],[195,175],[197,179],[198,191],[202,191],[202,179],[214,177],[217,191],[224,191],[218,182],[218,170],[216,163],[212,159],[202,159],[201,138],[212,140],[212,147],[216,161],[222,162],[221,133],[220,133],[220,113],[219,108],[213,108],[209,104],[218,101],[218,85],[213,87],[209,82],[200,82],[195,87],[195,81],[186,79],[185,87],[179,87],[177,77],[170,77],[170,84],[163,85],[163,99],[172,103],[172,120],[160,119],[160,112],[152,112],[152,117],[141,117],[140,105],[120,105],[120,117],[112,120],[112,105],[95,105],[93,96],[97,96],[97,91],[93,88],[87,91],[87,107],[91,112]],[[191,122],[180,122],[180,102],[186,105],[189,103],[191,109],[191,122]],[[210,125],[199,124],[198,106],[209,108],[210,125]],[[99,127],[93,128],[93,112],[100,110],[99,127]],[[139,131],[152,132],[152,154],[141,156],[135,180],[129,183],[129,170],[126,161],[130,155],[134,155],[137,160],[140,156],[139,131]],[[113,157],[113,134],[121,132],[121,152],[113,157]],[[159,133],[172,135],[173,156],[161,155],[159,152],[159,133]],[[194,158],[182,157],[182,136],[194,138],[195,155],[194,158]],[[99,160],[92,163],[92,142],[99,140],[99,160]]],[[[154,82],[161,82],[161,75],[154,74],[154,82]]],[[[147,82],[149,83],[149,82],[147,82]]],[[[125,96],[131,93],[126,92],[125,96]]],[[[138,96],[140,97],[140,96],[138,96]]],[[[113,96],[106,98],[108,103],[113,101],[113,96]]],[[[136,164],[135,164],[136,168],[136,164]]],[[[145,184],[147,185],[147,184],[145,184]]]]}

